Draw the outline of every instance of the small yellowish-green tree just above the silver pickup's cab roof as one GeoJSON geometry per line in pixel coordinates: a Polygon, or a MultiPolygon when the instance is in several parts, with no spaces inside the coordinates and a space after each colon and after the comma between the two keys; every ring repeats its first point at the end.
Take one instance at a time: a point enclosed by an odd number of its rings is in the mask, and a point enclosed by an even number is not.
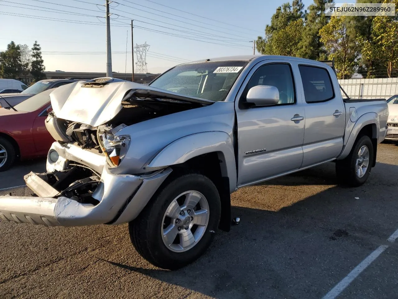
{"type": "Polygon", "coordinates": [[[290,22],[285,28],[275,31],[272,36],[272,54],[296,56],[303,30],[303,20],[290,22]]]}

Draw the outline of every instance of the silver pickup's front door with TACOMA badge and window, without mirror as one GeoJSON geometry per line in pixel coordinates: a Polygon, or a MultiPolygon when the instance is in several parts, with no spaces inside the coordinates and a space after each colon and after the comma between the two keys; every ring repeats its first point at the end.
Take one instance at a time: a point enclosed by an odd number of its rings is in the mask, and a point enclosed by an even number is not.
{"type": "MultiPolygon", "coordinates": [[[[250,185],[300,168],[304,138],[304,106],[297,96],[291,65],[263,63],[249,73],[239,102],[238,186],[250,185]],[[245,105],[248,90],[271,85],[279,90],[273,106],[245,105]]],[[[236,99],[238,101],[238,99],[236,99]]]]}

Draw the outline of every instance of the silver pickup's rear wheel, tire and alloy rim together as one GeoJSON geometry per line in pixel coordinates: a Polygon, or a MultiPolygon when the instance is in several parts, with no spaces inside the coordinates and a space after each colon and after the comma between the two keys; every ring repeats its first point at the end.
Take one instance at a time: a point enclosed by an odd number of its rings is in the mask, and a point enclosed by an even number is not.
{"type": "Polygon", "coordinates": [[[336,174],[342,185],[358,187],[368,179],[373,161],[373,144],[369,136],[359,138],[349,155],[336,162],[336,174]]]}

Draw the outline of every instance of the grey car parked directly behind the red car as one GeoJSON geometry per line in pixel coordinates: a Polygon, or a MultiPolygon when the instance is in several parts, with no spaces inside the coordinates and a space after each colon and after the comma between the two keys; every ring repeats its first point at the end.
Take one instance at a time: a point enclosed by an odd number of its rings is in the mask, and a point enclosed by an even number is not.
{"type": "Polygon", "coordinates": [[[23,90],[20,93],[0,94],[0,96],[2,96],[2,98],[0,97],[0,107],[9,107],[7,102],[10,103],[12,106],[15,106],[20,102],[26,100],[27,98],[30,98],[31,96],[43,92],[44,90],[53,89],[77,81],[82,80],[46,79],[37,81],[35,84],[27,87],[27,89],[23,90]],[[4,100],[4,98],[6,100],[4,100]]]}

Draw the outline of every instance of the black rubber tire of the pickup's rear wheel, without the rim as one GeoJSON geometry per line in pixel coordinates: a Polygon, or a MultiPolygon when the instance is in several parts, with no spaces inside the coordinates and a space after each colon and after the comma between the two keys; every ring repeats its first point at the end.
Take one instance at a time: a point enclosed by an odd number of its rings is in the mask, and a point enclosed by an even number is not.
{"type": "Polygon", "coordinates": [[[349,155],[343,159],[336,161],[336,175],[339,183],[347,187],[359,187],[368,179],[373,162],[373,144],[369,136],[360,137],[354,144],[349,155]],[[357,175],[356,162],[358,158],[359,149],[362,146],[367,146],[369,149],[369,165],[363,177],[357,175]]]}

